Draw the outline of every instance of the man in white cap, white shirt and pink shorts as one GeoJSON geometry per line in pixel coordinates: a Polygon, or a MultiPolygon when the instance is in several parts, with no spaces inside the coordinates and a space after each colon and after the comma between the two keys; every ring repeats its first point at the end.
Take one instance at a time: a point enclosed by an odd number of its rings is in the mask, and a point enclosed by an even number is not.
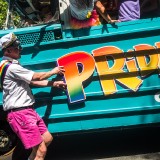
{"type": "Polygon", "coordinates": [[[14,33],[3,36],[0,46],[3,52],[0,63],[3,110],[7,112],[7,120],[25,149],[32,148],[29,160],[44,160],[53,137],[34,110],[35,100],[29,85],[66,89],[63,81],[47,80],[54,74],[63,75],[64,67],[55,67],[48,72],[34,72],[22,67],[18,61],[22,47],[14,33]]]}

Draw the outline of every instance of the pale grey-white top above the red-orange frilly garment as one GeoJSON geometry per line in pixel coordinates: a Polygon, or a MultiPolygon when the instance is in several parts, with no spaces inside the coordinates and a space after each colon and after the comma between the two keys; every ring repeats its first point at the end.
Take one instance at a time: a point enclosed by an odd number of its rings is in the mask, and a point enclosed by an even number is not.
{"type": "Polygon", "coordinates": [[[97,0],[69,0],[72,17],[78,20],[87,19],[87,14],[92,12],[95,1],[97,0]],[[89,5],[87,5],[87,1],[89,5]]]}

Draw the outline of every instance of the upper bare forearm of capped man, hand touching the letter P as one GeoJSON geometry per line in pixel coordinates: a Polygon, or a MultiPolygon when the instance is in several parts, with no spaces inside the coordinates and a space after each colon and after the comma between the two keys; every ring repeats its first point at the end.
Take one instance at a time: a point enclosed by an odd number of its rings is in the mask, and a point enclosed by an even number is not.
{"type": "Polygon", "coordinates": [[[54,74],[63,75],[64,72],[65,70],[63,66],[55,67],[54,69],[48,72],[35,72],[32,76],[32,81],[44,80],[51,77],[54,74]]]}

